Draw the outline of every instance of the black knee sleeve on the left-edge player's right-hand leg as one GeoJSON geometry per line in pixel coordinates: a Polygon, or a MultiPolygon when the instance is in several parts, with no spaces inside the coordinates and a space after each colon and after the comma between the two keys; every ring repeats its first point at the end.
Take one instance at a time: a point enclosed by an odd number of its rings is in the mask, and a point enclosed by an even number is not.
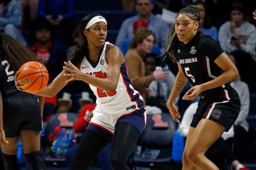
{"type": "Polygon", "coordinates": [[[44,160],[42,159],[41,153],[39,151],[25,153],[25,157],[29,166],[33,170],[45,169],[44,160]]]}

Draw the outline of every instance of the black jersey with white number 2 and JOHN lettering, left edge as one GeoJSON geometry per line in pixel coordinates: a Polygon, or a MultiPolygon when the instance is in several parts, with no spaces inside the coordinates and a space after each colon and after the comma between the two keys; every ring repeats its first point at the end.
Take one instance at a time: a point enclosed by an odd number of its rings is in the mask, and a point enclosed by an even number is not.
{"type": "Polygon", "coordinates": [[[0,53],[0,91],[3,99],[5,99],[8,94],[19,90],[14,84],[15,72],[12,70],[11,64],[7,60],[4,60],[2,55],[3,54],[0,53]]]}

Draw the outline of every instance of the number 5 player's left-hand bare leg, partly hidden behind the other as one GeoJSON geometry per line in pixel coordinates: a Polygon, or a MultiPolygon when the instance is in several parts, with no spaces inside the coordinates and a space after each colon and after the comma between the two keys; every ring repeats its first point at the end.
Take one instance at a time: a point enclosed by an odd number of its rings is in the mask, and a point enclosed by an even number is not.
{"type": "Polygon", "coordinates": [[[187,136],[184,151],[182,154],[182,170],[197,170],[196,166],[194,166],[191,162],[189,162],[186,156],[187,148],[188,148],[188,145],[190,144],[191,136],[193,135],[195,129],[196,128],[190,126],[188,130],[188,136],[187,136]]]}

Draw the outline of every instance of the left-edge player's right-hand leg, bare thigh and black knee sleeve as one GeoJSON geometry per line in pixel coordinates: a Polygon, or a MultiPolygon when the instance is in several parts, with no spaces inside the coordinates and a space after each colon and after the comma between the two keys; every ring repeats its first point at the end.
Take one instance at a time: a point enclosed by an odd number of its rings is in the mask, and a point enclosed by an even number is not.
{"type": "Polygon", "coordinates": [[[45,169],[40,152],[40,131],[20,130],[20,140],[29,166],[33,170],[45,169]]]}

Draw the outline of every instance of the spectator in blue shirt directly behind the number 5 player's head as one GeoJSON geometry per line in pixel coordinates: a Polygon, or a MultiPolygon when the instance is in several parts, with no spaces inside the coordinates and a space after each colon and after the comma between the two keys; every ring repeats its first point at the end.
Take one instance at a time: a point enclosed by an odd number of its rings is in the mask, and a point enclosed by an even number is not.
{"type": "Polygon", "coordinates": [[[206,4],[202,0],[198,0],[194,3],[196,7],[200,10],[201,22],[199,23],[199,31],[210,35],[213,40],[218,41],[218,30],[215,26],[212,25],[210,16],[208,14],[208,9],[206,4]]]}

